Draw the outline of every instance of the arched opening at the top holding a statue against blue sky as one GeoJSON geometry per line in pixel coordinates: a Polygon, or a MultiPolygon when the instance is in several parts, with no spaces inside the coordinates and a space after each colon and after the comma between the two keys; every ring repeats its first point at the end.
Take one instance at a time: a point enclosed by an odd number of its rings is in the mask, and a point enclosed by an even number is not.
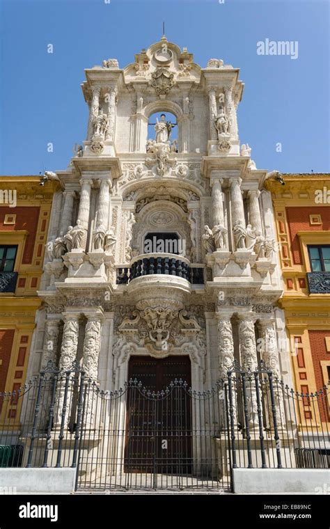
{"type": "Polygon", "coordinates": [[[148,145],[150,141],[157,143],[170,142],[171,150],[178,152],[178,123],[171,112],[155,112],[148,120],[148,145]]]}

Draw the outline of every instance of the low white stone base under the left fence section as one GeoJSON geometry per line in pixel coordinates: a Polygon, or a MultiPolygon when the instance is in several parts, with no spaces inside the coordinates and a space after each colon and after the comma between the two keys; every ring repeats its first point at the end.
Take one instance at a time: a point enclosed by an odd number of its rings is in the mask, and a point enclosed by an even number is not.
{"type": "Polygon", "coordinates": [[[76,468],[0,468],[0,494],[70,494],[76,468]]]}

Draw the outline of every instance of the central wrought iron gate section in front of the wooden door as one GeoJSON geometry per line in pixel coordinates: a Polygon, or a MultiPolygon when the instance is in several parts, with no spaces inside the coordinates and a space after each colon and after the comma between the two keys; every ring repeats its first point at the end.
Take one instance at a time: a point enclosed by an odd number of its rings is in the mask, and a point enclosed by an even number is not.
{"type": "Polygon", "coordinates": [[[196,392],[174,380],[160,392],[130,380],[107,392],[88,384],[78,487],[228,490],[222,382],[196,392]]]}

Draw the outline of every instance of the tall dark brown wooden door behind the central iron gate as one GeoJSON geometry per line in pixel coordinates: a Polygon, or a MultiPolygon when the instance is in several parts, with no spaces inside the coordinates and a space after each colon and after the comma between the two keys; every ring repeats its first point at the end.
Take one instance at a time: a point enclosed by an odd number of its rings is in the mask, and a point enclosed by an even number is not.
{"type": "Polygon", "coordinates": [[[142,386],[127,392],[125,471],[190,473],[189,356],[132,356],[128,379],[141,381],[142,386]],[[171,386],[175,379],[184,381],[186,388],[181,384],[171,386]]]}

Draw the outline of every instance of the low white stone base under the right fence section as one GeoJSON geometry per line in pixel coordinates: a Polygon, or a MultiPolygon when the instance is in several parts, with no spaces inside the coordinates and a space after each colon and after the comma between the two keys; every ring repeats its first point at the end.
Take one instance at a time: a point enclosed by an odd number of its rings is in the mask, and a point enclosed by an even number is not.
{"type": "Polygon", "coordinates": [[[301,493],[329,494],[326,468],[233,468],[233,491],[237,494],[301,493]]]}

